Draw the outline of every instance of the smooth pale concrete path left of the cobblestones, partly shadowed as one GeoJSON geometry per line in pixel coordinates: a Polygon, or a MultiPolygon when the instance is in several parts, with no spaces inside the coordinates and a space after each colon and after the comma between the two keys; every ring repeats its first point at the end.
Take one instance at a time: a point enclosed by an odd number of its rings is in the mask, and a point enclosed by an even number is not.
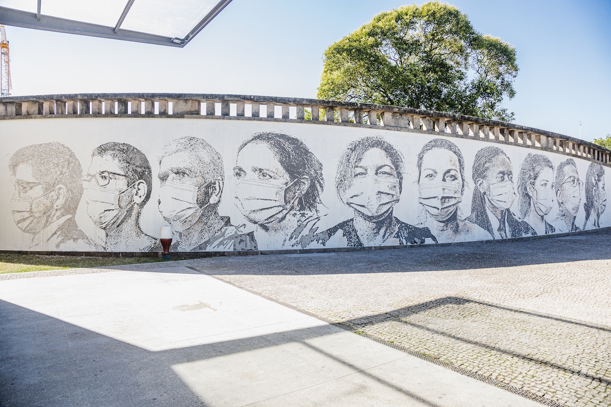
{"type": "Polygon", "coordinates": [[[538,405],[185,264],[5,276],[0,405],[538,405]]]}

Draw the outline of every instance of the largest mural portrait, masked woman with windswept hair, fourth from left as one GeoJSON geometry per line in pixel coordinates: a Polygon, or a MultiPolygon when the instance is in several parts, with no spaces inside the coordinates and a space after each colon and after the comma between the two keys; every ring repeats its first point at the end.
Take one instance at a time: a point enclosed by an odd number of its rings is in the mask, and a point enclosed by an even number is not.
{"type": "Polygon", "coordinates": [[[256,226],[259,250],[302,247],[318,230],[323,165],[301,140],[253,135],[238,148],[233,176],[235,204],[256,226]]]}

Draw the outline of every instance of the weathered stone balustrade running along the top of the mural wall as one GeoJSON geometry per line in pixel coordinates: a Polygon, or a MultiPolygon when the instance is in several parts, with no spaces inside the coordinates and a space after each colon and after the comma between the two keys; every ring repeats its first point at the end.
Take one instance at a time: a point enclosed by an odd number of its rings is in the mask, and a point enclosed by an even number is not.
{"type": "Polygon", "coordinates": [[[393,130],[410,129],[416,132],[440,133],[450,137],[481,139],[487,142],[544,149],[589,159],[602,165],[611,165],[609,149],[567,135],[497,120],[395,106],[248,95],[131,93],[0,98],[0,119],[109,115],[113,117],[250,117],[257,120],[299,120],[304,123],[342,126],[380,126],[393,130]],[[216,109],[217,103],[220,105],[219,110],[216,109]],[[264,118],[261,117],[262,106],[264,106],[264,118]],[[279,117],[276,117],[276,107],[280,110],[279,117]],[[295,115],[291,115],[291,108],[296,109],[295,115]],[[338,114],[335,113],[336,110],[338,114]],[[235,114],[232,111],[235,111],[235,114]],[[250,115],[247,115],[248,111],[250,115]],[[305,120],[306,111],[310,112],[309,120],[305,120]]]}

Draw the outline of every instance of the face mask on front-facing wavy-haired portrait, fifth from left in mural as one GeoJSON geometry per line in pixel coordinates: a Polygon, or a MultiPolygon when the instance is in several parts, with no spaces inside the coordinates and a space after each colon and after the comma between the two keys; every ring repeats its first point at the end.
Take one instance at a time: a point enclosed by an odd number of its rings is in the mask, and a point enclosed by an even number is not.
{"type": "Polygon", "coordinates": [[[357,211],[378,217],[399,201],[399,180],[376,175],[354,178],[346,190],[346,203],[357,211]]]}

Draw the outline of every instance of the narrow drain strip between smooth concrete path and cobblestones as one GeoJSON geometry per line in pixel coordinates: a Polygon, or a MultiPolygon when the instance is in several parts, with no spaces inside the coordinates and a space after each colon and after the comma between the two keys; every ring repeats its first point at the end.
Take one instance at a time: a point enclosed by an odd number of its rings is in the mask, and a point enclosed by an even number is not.
{"type": "MultiPolygon", "coordinates": [[[[193,266],[186,266],[186,268],[190,268],[191,270],[194,270],[194,271],[196,271],[198,273],[203,273],[205,275],[211,276],[212,278],[218,279],[219,281],[222,281],[223,283],[230,284],[233,287],[236,287],[238,289],[244,290],[244,291],[249,292],[251,294],[258,295],[259,297],[265,298],[266,300],[273,301],[273,302],[278,303],[278,304],[280,304],[282,306],[285,306],[287,308],[290,308],[290,309],[293,309],[295,311],[301,312],[302,314],[309,315],[310,317],[314,317],[316,319],[319,319],[319,320],[321,320],[323,322],[328,323],[329,325],[337,326],[338,328],[342,328],[343,330],[349,331],[351,333],[356,333],[356,331],[358,331],[358,329],[353,328],[352,326],[349,326],[349,325],[347,325],[345,323],[334,322],[334,321],[332,321],[330,319],[327,319],[325,317],[321,317],[320,315],[314,314],[313,312],[310,312],[310,311],[307,311],[305,309],[301,309],[301,308],[298,308],[296,306],[293,306],[292,304],[286,303],[285,301],[278,300],[277,298],[274,298],[274,297],[269,297],[268,295],[262,294],[260,292],[256,292],[256,291],[251,290],[251,289],[247,289],[246,287],[240,286],[239,284],[235,284],[232,281],[227,281],[225,279],[222,279],[221,277],[213,275],[213,274],[211,274],[211,273],[209,273],[209,272],[207,272],[205,270],[200,270],[199,268],[196,268],[196,267],[193,267],[193,266]]],[[[458,367],[458,366],[454,366],[452,364],[445,364],[444,362],[440,361],[439,359],[431,358],[430,356],[423,355],[420,352],[417,352],[417,351],[411,350],[409,348],[403,347],[402,345],[397,345],[397,344],[395,344],[393,342],[388,342],[385,339],[381,339],[379,337],[372,336],[372,335],[370,335],[368,333],[363,332],[363,333],[359,333],[359,335],[363,336],[363,337],[366,337],[366,338],[368,338],[370,340],[373,340],[375,342],[378,342],[380,344],[386,345],[386,346],[388,346],[390,348],[397,349],[397,350],[403,351],[405,353],[408,353],[408,355],[415,356],[415,357],[417,357],[419,359],[423,359],[423,360],[425,360],[427,362],[431,362],[433,364],[436,364],[437,366],[442,366],[442,367],[445,367],[446,369],[453,370],[454,372],[460,373],[461,375],[468,376],[470,378],[473,378],[475,380],[481,381],[483,383],[490,384],[491,386],[499,387],[499,388],[501,388],[501,389],[503,389],[505,391],[511,392],[513,394],[520,395],[520,396],[522,396],[524,398],[527,398],[529,400],[533,400],[534,402],[538,402],[538,403],[540,403],[542,405],[550,406],[550,407],[566,407],[565,405],[562,405],[560,403],[554,402],[553,400],[551,400],[549,398],[541,397],[541,396],[536,395],[536,394],[534,394],[534,393],[532,393],[530,391],[526,391],[524,389],[519,389],[518,387],[511,386],[511,384],[502,383],[500,381],[491,379],[489,377],[480,375],[478,373],[471,372],[470,370],[463,369],[463,368],[458,367]]]]}

